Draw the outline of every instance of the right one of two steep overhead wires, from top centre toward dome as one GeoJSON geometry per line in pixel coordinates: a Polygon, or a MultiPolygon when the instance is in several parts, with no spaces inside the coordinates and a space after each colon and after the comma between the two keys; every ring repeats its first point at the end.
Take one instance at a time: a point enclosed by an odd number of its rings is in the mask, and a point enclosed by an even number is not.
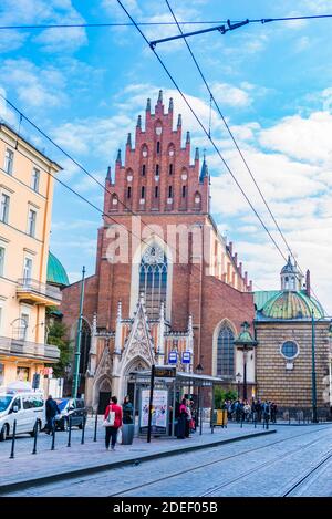
{"type": "MultiPolygon", "coordinates": [[[[215,106],[216,106],[216,108],[217,108],[217,112],[218,112],[218,114],[220,115],[220,117],[221,117],[221,120],[222,120],[222,123],[225,124],[225,126],[226,126],[226,128],[227,128],[227,132],[228,132],[228,134],[229,134],[229,136],[230,136],[230,138],[231,138],[231,141],[232,141],[232,143],[234,143],[234,145],[235,145],[235,147],[237,148],[237,150],[238,150],[238,153],[239,153],[239,155],[240,155],[240,157],[241,157],[241,159],[242,159],[242,162],[243,162],[243,164],[245,164],[245,166],[246,166],[246,169],[248,170],[248,173],[249,173],[249,175],[250,175],[250,177],[251,177],[251,179],[252,179],[252,181],[253,181],[253,184],[255,184],[255,186],[256,186],[256,188],[257,188],[257,190],[258,190],[258,193],[259,193],[259,195],[260,195],[260,197],[261,197],[261,199],[262,199],[262,201],[263,201],[266,208],[268,209],[268,211],[269,211],[269,214],[270,214],[270,216],[271,216],[271,218],[272,218],[272,220],[273,220],[273,222],[274,222],[274,225],[276,225],[276,228],[278,229],[278,231],[279,231],[279,233],[280,233],[280,236],[281,236],[281,238],[282,238],[282,240],[283,240],[283,242],[284,242],[284,245],[286,245],[286,247],[287,247],[287,249],[288,249],[288,251],[289,251],[289,253],[290,253],[290,256],[293,258],[294,261],[297,261],[293,251],[291,250],[291,248],[290,248],[290,246],[289,246],[289,243],[288,243],[288,241],[287,241],[287,239],[286,239],[286,237],[284,237],[284,235],[283,235],[283,232],[282,232],[282,230],[281,230],[281,228],[280,228],[280,226],[279,226],[279,224],[278,224],[278,221],[277,221],[277,219],[276,219],[276,217],[274,217],[274,215],[273,215],[273,212],[272,212],[272,210],[271,210],[271,208],[270,208],[270,206],[269,206],[269,204],[268,204],[268,201],[267,201],[267,199],[266,199],[266,197],[264,197],[264,195],[263,195],[263,193],[262,193],[262,190],[260,189],[260,187],[259,187],[259,185],[258,185],[258,183],[257,183],[257,180],[256,180],[256,178],[255,178],[253,173],[251,172],[251,168],[249,167],[249,164],[248,164],[248,162],[247,162],[247,159],[246,159],[243,153],[241,152],[241,149],[240,149],[240,147],[239,147],[239,145],[238,145],[238,143],[237,143],[235,136],[234,136],[234,133],[231,132],[231,129],[230,129],[230,127],[229,127],[229,125],[228,125],[228,123],[227,123],[227,121],[226,121],[226,118],[225,118],[225,116],[224,116],[224,114],[222,114],[222,112],[221,112],[221,110],[220,110],[220,106],[219,106],[218,102],[216,101],[216,97],[214,96],[214,94],[212,94],[212,92],[211,92],[211,89],[210,89],[210,86],[209,86],[209,84],[208,84],[208,82],[207,82],[207,79],[205,77],[205,74],[203,73],[203,70],[201,70],[201,68],[200,68],[200,65],[199,65],[197,59],[195,58],[194,51],[193,51],[191,46],[189,45],[189,43],[188,43],[188,41],[187,41],[187,38],[186,38],[186,35],[184,34],[184,32],[183,32],[183,30],[181,30],[181,28],[180,28],[180,24],[179,24],[179,22],[178,22],[178,20],[177,20],[177,18],[176,18],[175,12],[174,12],[173,9],[172,9],[172,6],[169,4],[169,1],[168,1],[168,0],[165,0],[165,2],[166,2],[167,7],[168,7],[168,9],[169,9],[170,14],[172,14],[173,18],[174,18],[175,23],[176,23],[177,27],[178,27],[179,32],[180,32],[181,35],[184,37],[183,39],[184,39],[184,41],[185,41],[185,43],[186,43],[186,45],[187,45],[187,49],[188,49],[188,51],[189,51],[189,53],[190,53],[190,55],[191,55],[191,58],[193,58],[193,61],[194,61],[194,63],[195,63],[195,65],[196,65],[198,72],[199,72],[199,75],[200,75],[200,77],[201,77],[201,80],[203,80],[203,82],[204,82],[204,84],[205,84],[205,86],[206,86],[206,89],[207,89],[207,91],[208,91],[208,93],[209,93],[209,97],[210,97],[209,136],[210,136],[210,127],[211,127],[211,102],[214,102],[214,104],[215,104],[215,106]]],[[[298,264],[298,268],[299,268],[299,270],[300,270],[300,273],[301,273],[302,276],[304,276],[304,274],[303,274],[303,271],[302,271],[302,269],[301,269],[301,267],[300,267],[300,264],[299,264],[298,262],[297,262],[297,264],[298,264]]],[[[313,292],[313,293],[314,293],[314,292],[313,292]]],[[[315,295],[315,294],[314,294],[314,295],[315,295]]],[[[317,298],[317,299],[318,299],[318,298],[317,298]]]]}

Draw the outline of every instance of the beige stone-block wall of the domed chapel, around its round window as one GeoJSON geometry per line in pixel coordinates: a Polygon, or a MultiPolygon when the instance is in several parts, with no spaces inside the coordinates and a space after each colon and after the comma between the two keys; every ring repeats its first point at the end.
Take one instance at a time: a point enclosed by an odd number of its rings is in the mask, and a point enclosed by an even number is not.
{"type": "MultiPolygon", "coordinates": [[[[315,322],[317,406],[329,408],[329,321],[315,322]]],[[[308,321],[257,322],[257,396],[279,407],[308,409],[312,406],[312,329],[308,321]],[[291,341],[298,352],[282,355],[282,344],[291,341]]]]}

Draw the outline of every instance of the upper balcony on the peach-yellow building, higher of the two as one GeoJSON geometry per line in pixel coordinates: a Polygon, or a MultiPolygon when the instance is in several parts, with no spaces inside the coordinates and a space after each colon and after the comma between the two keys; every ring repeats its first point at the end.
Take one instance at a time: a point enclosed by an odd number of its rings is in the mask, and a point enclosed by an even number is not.
{"type": "Polygon", "coordinates": [[[62,300],[62,293],[58,287],[41,283],[31,278],[18,280],[17,297],[20,301],[46,307],[59,305],[62,300]]]}

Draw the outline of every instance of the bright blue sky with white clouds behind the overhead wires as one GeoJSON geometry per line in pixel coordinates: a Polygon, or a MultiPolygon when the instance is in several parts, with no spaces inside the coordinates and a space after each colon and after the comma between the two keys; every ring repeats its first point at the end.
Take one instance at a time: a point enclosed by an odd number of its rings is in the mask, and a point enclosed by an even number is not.
{"type": "MultiPolygon", "coordinates": [[[[173,21],[163,0],[123,0],[141,22],[173,21]]],[[[179,21],[332,13],[328,0],[169,0],[179,21]]],[[[127,21],[116,0],[2,0],[0,25],[127,21]]],[[[188,30],[201,25],[187,25],[188,30]]],[[[177,33],[145,27],[148,40],[177,33]]],[[[249,24],[188,41],[255,178],[328,314],[332,314],[332,19],[249,24]]],[[[209,95],[183,41],[156,50],[205,125],[209,95]]],[[[284,264],[235,181],[138,32],[129,27],[0,30],[0,92],[104,181],[146,98],[174,97],[191,149],[206,148],[211,212],[255,290],[279,289],[284,264]]],[[[0,116],[18,127],[3,103],[0,116]]],[[[27,122],[21,132],[63,167],[59,178],[102,209],[103,189],[27,122]]],[[[215,110],[211,135],[284,256],[287,247],[215,110]]],[[[194,158],[194,156],[193,156],[194,158]]],[[[56,184],[56,183],[55,183],[56,184]]],[[[51,250],[71,281],[94,273],[101,215],[56,184],[51,250]]]]}

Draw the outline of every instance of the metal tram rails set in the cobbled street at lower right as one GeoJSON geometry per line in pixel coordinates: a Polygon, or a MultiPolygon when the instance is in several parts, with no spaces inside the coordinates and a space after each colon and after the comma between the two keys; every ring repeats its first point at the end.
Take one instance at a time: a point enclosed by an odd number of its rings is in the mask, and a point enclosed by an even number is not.
{"type": "MultiPolygon", "coordinates": [[[[152,481],[145,481],[144,484],[142,485],[136,485],[134,487],[131,487],[131,488],[125,488],[125,489],[122,489],[120,491],[116,491],[114,494],[111,494],[108,495],[107,497],[117,497],[117,496],[125,496],[126,494],[128,492],[132,492],[132,491],[135,491],[135,490],[138,490],[138,489],[142,489],[142,488],[146,488],[146,487],[149,487],[149,486],[153,486],[153,485],[156,485],[156,484],[159,484],[159,482],[163,482],[163,481],[166,481],[170,478],[176,478],[176,477],[180,477],[180,476],[184,476],[186,474],[189,474],[189,473],[194,473],[195,470],[200,470],[201,468],[205,468],[205,467],[210,467],[212,465],[217,465],[217,464],[220,464],[222,461],[227,461],[229,459],[232,459],[232,458],[238,458],[239,456],[242,456],[242,455],[246,455],[246,454],[250,454],[250,453],[253,453],[253,451],[257,451],[257,450],[261,450],[261,449],[264,449],[264,448],[268,448],[268,447],[273,447],[274,445],[277,444],[281,444],[281,443],[284,443],[284,442],[290,442],[292,440],[293,438],[297,438],[297,437],[303,437],[303,436],[307,436],[307,435],[311,435],[311,434],[315,434],[317,430],[311,430],[309,433],[304,433],[304,434],[298,434],[298,435],[293,435],[293,436],[290,436],[288,438],[283,438],[283,439],[279,439],[277,442],[271,442],[267,445],[263,445],[263,446],[259,446],[259,447],[255,447],[255,448],[250,448],[250,449],[247,449],[247,450],[241,450],[240,453],[237,453],[237,454],[234,454],[231,456],[224,456],[222,458],[218,458],[218,459],[215,459],[212,461],[208,461],[206,464],[200,464],[200,465],[197,465],[197,466],[194,466],[194,467],[189,467],[189,468],[186,468],[184,470],[179,470],[177,473],[172,473],[172,474],[167,474],[166,476],[163,476],[160,478],[157,478],[157,479],[154,479],[152,481]]],[[[328,437],[328,436],[326,436],[328,437]]],[[[307,444],[305,446],[303,446],[302,448],[305,449],[305,448],[309,448],[311,447],[312,445],[319,443],[322,440],[322,437],[318,438],[318,439],[314,439],[313,442],[310,442],[309,444],[307,444]]],[[[291,451],[289,453],[286,453],[283,455],[283,458],[284,457],[288,457],[288,456],[291,456],[293,454],[295,454],[298,451],[298,448],[295,449],[292,449],[291,451]]],[[[228,481],[225,481],[225,484],[222,485],[219,485],[219,486],[215,486],[210,489],[208,489],[206,492],[201,494],[199,497],[207,497],[209,495],[212,495],[215,491],[221,489],[221,488],[225,488],[229,485],[232,485],[234,482],[236,482],[237,480],[240,480],[240,479],[243,479],[246,478],[247,476],[250,476],[252,475],[253,473],[260,470],[261,468],[264,468],[264,467],[268,467],[270,465],[273,465],[274,463],[277,463],[278,460],[280,460],[280,457],[278,456],[277,458],[273,458],[272,460],[269,460],[269,461],[264,461],[263,464],[260,464],[259,466],[257,467],[253,467],[252,469],[250,470],[247,470],[245,473],[242,473],[241,475],[237,476],[236,478],[231,479],[231,480],[228,480],[228,481]]]]}

